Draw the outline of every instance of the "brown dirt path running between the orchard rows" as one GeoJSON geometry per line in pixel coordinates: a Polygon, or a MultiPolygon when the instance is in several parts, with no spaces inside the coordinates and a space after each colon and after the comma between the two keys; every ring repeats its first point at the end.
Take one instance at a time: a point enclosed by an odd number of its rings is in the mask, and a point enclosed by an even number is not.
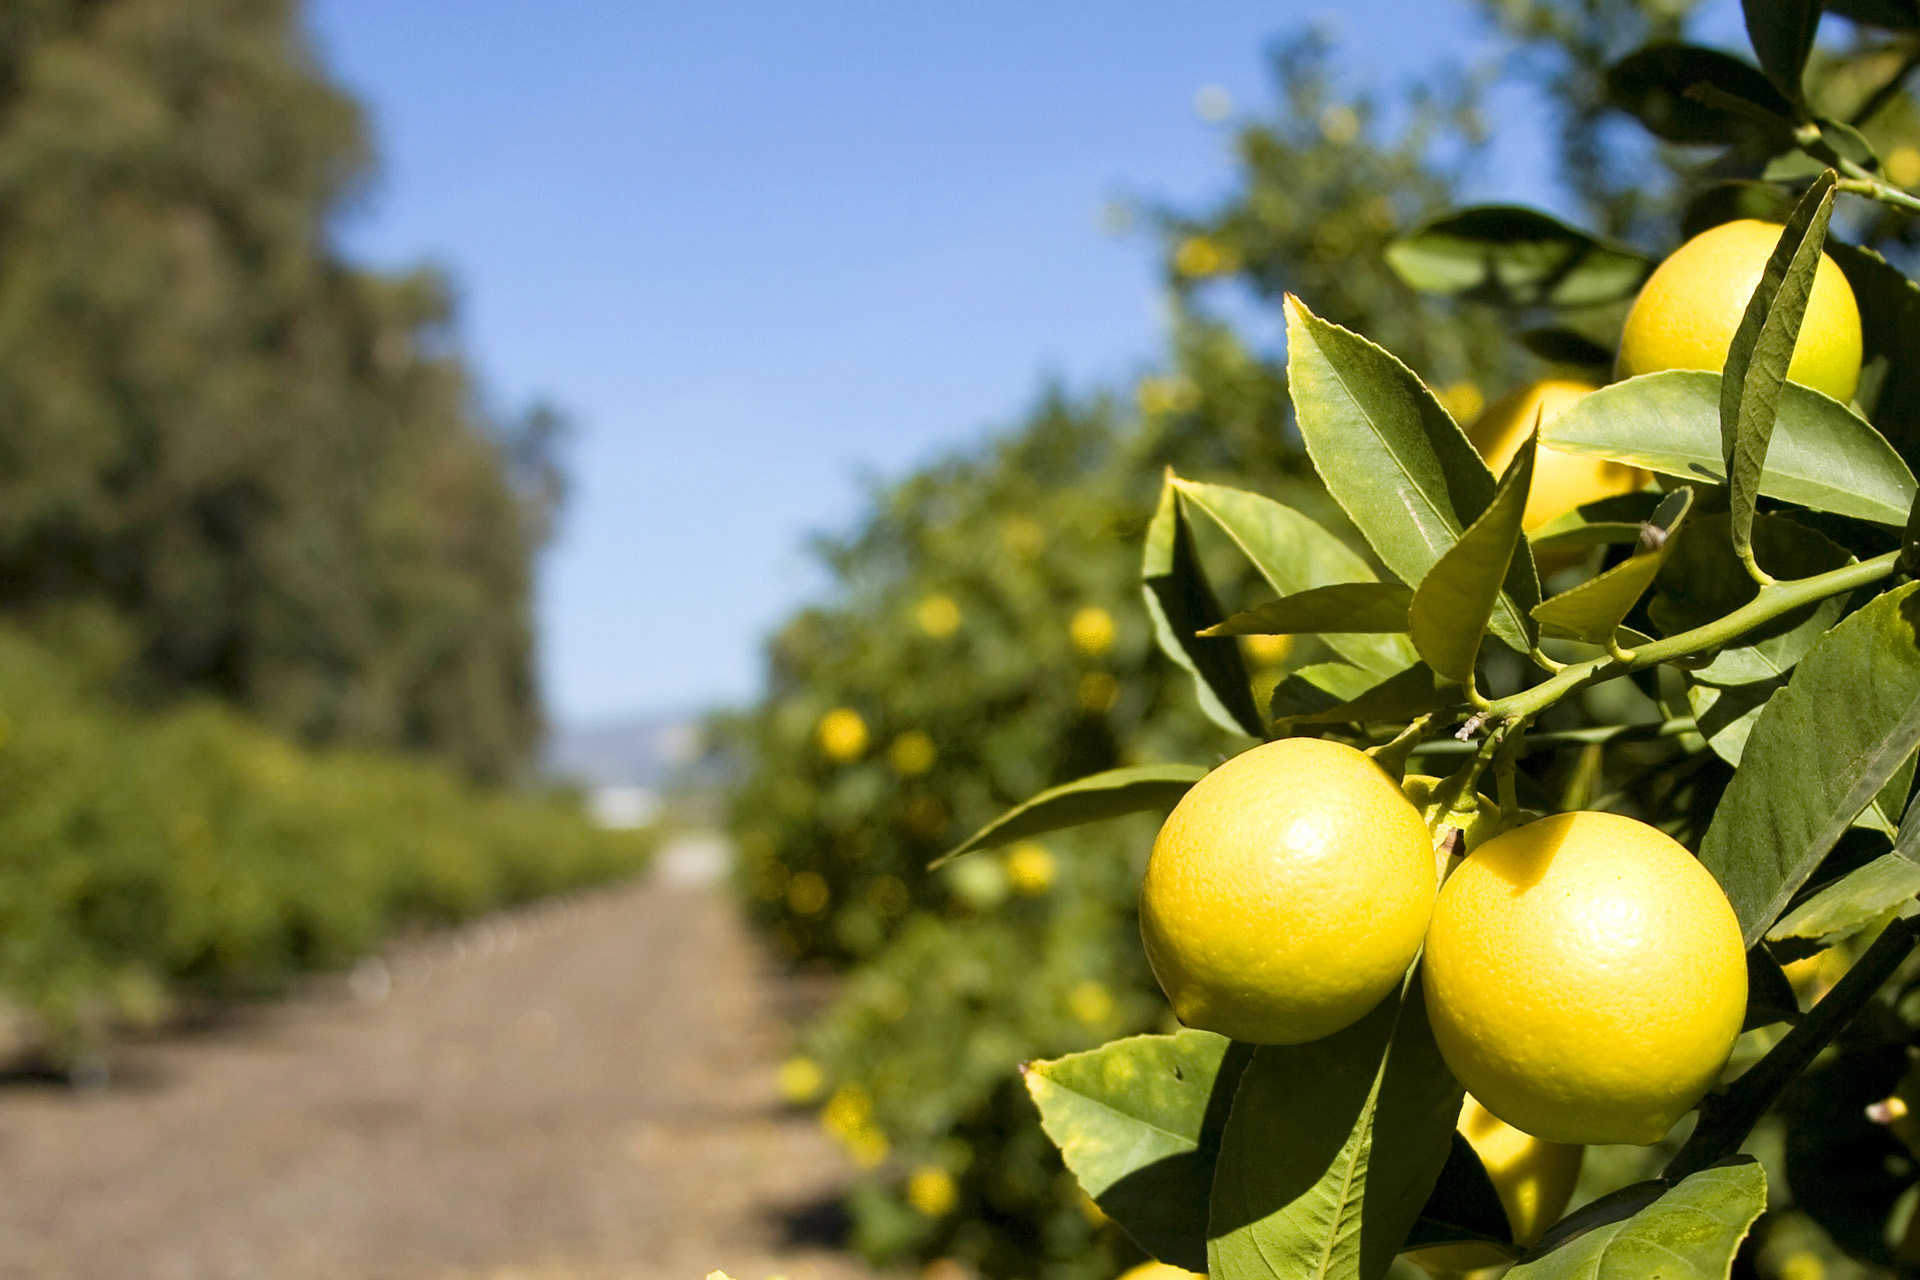
{"type": "Polygon", "coordinates": [[[0,1090],[0,1276],[854,1280],[781,1224],[845,1178],[776,1105],[793,990],[662,862],[0,1090]]]}

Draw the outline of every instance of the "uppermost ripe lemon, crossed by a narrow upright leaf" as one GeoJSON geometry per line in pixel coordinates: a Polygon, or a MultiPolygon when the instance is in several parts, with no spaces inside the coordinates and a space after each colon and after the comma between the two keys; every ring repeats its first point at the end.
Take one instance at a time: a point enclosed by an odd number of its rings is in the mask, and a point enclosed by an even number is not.
{"type": "MultiPolygon", "coordinates": [[[[1741,219],[1703,230],[1674,249],[1647,276],[1626,313],[1615,365],[1619,376],[1663,368],[1718,372],[1778,240],[1776,225],[1741,219]]],[[[1837,401],[1853,399],[1860,382],[1860,307],[1847,276],[1824,253],[1788,378],[1837,401]]]]}

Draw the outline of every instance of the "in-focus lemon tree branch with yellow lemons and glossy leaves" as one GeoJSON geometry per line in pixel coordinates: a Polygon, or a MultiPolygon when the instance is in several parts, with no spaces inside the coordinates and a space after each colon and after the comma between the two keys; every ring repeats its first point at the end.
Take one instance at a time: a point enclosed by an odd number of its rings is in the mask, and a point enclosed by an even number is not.
{"type": "MultiPolygon", "coordinates": [[[[1755,190],[1780,221],[1713,219],[1659,267],[1513,207],[1407,234],[1390,259],[1421,288],[1521,322],[1613,307],[1607,342],[1534,330],[1588,386],[1496,405],[1475,438],[1446,388],[1286,297],[1294,426],[1367,555],[1169,472],[1142,599],[1242,750],[1050,787],[948,854],[1167,814],[1140,889],[1167,1031],[1023,1069],[1081,1188],[1167,1267],[1726,1276],[1770,1180],[1862,1263],[1920,1230],[1903,1075],[1876,1065],[1920,1040],[1920,424],[1889,355],[1920,324],[1836,213],[1920,198],[1809,100],[1818,12],[1745,13],[1759,71],[1659,46],[1615,79],[1655,130],[1672,102],[1730,115],[1711,140],[1772,157],[1755,190]],[[1615,470],[1542,510],[1551,457],[1615,470]],[[1271,599],[1221,603],[1221,539],[1271,599]],[[1256,699],[1244,635],[1321,660],[1256,699]],[[1782,965],[1818,954],[1834,981],[1803,1000],[1782,965]],[[1851,1130],[1847,1090],[1876,1107],[1851,1130]],[[1511,1150],[1475,1142],[1469,1092],[1559,1161],[1528,1194],[1511,1150]],[[1862,1125],[1885,1157],[1834,1178],[1862,1125]],[[1596,1159],[1561,1217],[1580,1144],[1653,1163],[1596,1159]]],[[[1757,1249],[1789,1238],[1780,1213],[1757,1249]]]]}

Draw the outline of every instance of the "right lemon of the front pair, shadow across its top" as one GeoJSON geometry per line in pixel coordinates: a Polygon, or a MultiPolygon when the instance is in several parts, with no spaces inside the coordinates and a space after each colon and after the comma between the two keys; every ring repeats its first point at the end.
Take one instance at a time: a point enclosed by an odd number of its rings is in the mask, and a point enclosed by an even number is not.
{"type": "Polygon", "coordinates": [[[1459,1082],[1551,1142],[1659,1142],[1747,1009],[1720,885],[1619,814],[1557,814],[1476,848],[1434,902],[1421,969],[1459,1082]]]}

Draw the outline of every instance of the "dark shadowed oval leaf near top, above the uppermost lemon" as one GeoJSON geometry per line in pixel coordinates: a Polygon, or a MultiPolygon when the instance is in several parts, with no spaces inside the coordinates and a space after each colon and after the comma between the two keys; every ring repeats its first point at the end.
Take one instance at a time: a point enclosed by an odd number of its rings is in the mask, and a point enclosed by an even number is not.
{"type": "Polygon", "coordinates": [[[1749,102],[1789,125],[1793,104],[1780,96],[1763,73],[1730,54],[1697,44],[1649,44],[1607,69],[1607,100],[1638,119],[1667,142],[1690,146],[1740,144],[1786,129],[1766,129],[1749,115],[1709,106],[1690,96],[1695,84],[1711,84],[1728,98],[1749,102]]]}

